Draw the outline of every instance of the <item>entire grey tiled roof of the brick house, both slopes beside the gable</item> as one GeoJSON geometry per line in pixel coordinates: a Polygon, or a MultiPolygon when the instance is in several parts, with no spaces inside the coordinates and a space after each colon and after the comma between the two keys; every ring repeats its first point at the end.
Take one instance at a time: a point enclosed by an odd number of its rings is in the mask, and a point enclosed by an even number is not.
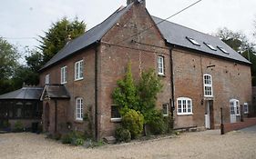
{"type": "MultiPolygon", "coordinates": [[[[118,10],[110,15],[101,24],[88,30],[84,35],[78,36],[76,39],[70,41],[63,49],[61,49],[52,59],[50,59],[46,65],[44,65],[41,70],[56,64],[60,60],[67,58],[70,55],[77,53],[79,50],[86,48],[89,45],[93,45],[101,40],[101,38],[108,33],[113,25],[118,22],[118,19],[128,12],[132,4],[126,7],[120,7],[118,10]]],[[[162,21],[161,18],[152,16],[152,19],[156,24],[162,21]]],[[[245,64],[251,64],[248,60],[242,57],[239,53],[235,52],[229,45],[223,43],[218,37],[200,33],[196,30],[190,29],[188,27],[177,25],[169,21],[164,21],[157,25],[159,31],[165,38],[165,40],[171,45],[179,45],[187,47],[189,49],[201,51],[209,55],[217,55],[220,57],[228,58],[231,60],[239,61],[245,64]],[[200,45],[194,45],[188,38],[194,39],[200,45]],[[206,44],[212,45],[216,50],[210,49],[206,44]],[[228,52],[228,54],[223,53],[220,50],[223,48],[228,52]]]]}

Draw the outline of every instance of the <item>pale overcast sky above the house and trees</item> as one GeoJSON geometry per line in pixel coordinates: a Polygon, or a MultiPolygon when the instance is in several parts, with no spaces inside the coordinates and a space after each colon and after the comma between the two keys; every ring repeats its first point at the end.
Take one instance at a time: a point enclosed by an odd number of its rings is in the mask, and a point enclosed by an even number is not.
{"type": "MultiPolygon", "coordinates": [[[[101,23],[126,0],[0,0],[0,36],[12,44],[30,48],[33,39],[44,35],[52,23],[64,16],[83,20],[87,29],[101,23]],[[20,39],[19,39],[20,38],[20,39]]],[[[148,12],[169,17],[197,0],[146,0],[148,12]]],[[[256,0],[202,0],[169,21],[203,33],[215,33],[220,27],[242,31],[251,40],[256,20],[256,0]]]]}

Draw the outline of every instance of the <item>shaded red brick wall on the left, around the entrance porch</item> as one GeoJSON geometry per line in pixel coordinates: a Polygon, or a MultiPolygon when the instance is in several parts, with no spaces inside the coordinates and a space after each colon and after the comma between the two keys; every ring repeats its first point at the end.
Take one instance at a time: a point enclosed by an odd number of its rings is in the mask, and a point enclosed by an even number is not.
{"type": "MultiPolygon", "coordinates": [[[[84,132],[87,129],[87,122],[81,122],[76,120],[76,98],[83,98],[84,112],[87,112],[88,108],[90,108],[92,109],[94,114],[95,49],[91,48],[87,50],[82,50],[73,55],[72,58],[63,60],[59,64],[44,70],[44,72],[40,74],[40,85],[42,86],[45,84],[45,76],[48,74],[50,75],[50,84],[60,84],[60,69],[65,65],[67,65],[67,84],[65,84],[65,86],[68,93],[70,94],[70,100],[57,100],[58,106],[60,105],[60,107],[63,107],[63,109],[67,109],[66,117],[62,117],[59,122],[61,123],[61,125],[70,122],[73,129],[84,132]],[[75,63],[82,59],[84,60],[84,79],[75,81],[75,63]]],[[[63,110],[59,109],[58,114],[63,114],[63,110]]]]}

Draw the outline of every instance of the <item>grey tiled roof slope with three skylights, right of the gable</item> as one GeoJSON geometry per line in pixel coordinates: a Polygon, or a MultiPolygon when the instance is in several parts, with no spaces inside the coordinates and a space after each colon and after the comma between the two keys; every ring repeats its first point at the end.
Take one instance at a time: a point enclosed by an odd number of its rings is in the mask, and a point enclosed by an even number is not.
{"type": "MultiPolygon", "coordinates": [[[[156,24],[162,21],[162,19],[156,16],[152,16],[152,18],[156,24]]],[[[189,49],[198,50],[210,55],[218,55],[220,57],[251,64],[247,59],[245,59],[242,55],[230,48],[229,45],[226,45],[224,42],[222,42],[218,37],[203,34],[196,30],[190,29],[182,25],[177,25],[169,21],[164,21],[160,23],[158,27],[165,40],[171,45],[179,45],[187,47],[189,49]],[[188,38],[194,39],[196,42],[199,43],[199,45],[194,45],[188,40],[188,38]],[[212,45],[215,50],[210,49],[210,47],[206,44],[212,45]],[[221,51],[220,48],[226,50],[228,54],[221,51]]]]}

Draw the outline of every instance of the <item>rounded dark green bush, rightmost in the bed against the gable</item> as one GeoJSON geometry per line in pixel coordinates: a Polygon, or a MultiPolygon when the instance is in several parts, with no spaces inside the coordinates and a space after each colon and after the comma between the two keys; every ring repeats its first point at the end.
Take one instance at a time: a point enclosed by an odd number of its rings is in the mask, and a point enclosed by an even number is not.
{"type": "Polygon", "coordinates": [[[148,127],[152,134],[163,134],[167,131],[168,125],[163,114],[159,110],[152,110],[148,114],[148,127]]]}

